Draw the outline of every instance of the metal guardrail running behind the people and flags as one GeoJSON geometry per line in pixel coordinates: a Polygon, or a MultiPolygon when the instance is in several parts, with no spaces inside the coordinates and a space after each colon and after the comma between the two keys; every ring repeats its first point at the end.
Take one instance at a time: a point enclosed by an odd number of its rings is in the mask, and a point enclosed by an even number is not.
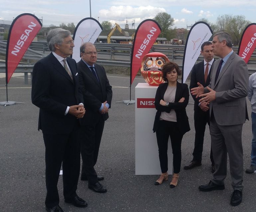
{"type": "MultiPolygon", "coordinates": [[[[97,63],[103,66],[119,66],[119,67],[130,67],[130,58],[132,53],[132,44],[106,44],[106,43],[95,43],[98,50],[97,63]]],[[[182,69],[181,61],[183,60],[185,46],[177,45],[153,45],[150,52],[161,52],[165,54],[170,61],[178,63],[182,69]],[[178,62],[180,61],[180,63],[178,62]]],[[[233,50],[237,52],[238,47],[233,47],[233,50]]],[[[30,48],[27,50],[23,59],[30,63],[30,60],[40,60],[46,57],[49,53],[49,49],[46,42],[32,42],[30,48]],[[45,52],[48,51],[48,52],[45,52]],[[45,54],[46,53],[46,54],[45,54]]],[[[0,54],[6,54],[6,41],[0,41],[0,54]]],[[[200,55],[197,61],[203,60],[200,55]]],[[[256,50],[251,56],[248,64],[256,64],[256,50]]],[[[34,65],[18,65],[15,72],[24,73],[25,83],[28,81],[28,73],[32,73],[34,65]]],[[[249,74],[256,72],[256,68],[248,68],[249,74]]],[[[5,64],[0,63],[0,73],[5,73],[5,64]]]]}

